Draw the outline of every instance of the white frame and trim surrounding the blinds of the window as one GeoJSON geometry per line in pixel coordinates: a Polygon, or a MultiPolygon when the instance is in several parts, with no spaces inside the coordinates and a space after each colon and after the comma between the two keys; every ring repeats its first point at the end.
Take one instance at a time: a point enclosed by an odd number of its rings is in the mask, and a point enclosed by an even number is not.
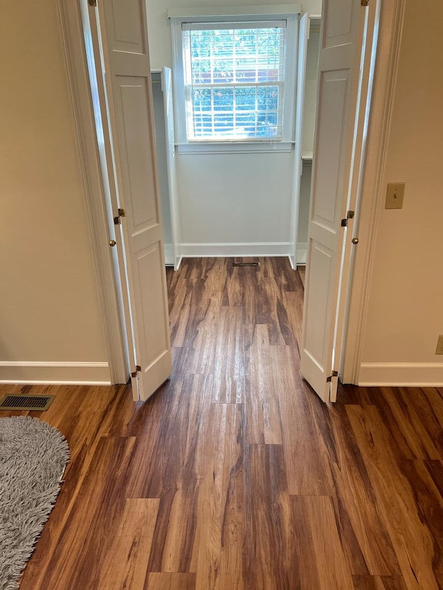
{"type": "Polygon", "coordinates": [[[173,51],[173,93],[175,112],[175,142],[179,152],[183,153],[216,153],[216,152],[253,152],[253,151],[291,151],[295,133],[295,96],[296,96],[296,64],[298,51],[298,13],[276,12],[251,15],[208,15],[208,16],[174,16],[171,18],[172,51],[173,51]],[[282,137],[253,138],[248,140],[188,140],[186,119],[185,80],[183,75],[182,24],[245,24],[271,20],[286,21],[286,47],[284,62],[284,86],[282,107],[282,137]]]}

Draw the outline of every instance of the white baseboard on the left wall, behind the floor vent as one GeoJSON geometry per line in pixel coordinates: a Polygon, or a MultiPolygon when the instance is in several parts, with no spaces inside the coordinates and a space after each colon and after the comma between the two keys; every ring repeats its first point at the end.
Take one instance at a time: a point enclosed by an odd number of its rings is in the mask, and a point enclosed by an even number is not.
{"type": "Polygon", "coordinates": [[[111,385],[107,362],[1,361],[0,383],[111,385]]]}

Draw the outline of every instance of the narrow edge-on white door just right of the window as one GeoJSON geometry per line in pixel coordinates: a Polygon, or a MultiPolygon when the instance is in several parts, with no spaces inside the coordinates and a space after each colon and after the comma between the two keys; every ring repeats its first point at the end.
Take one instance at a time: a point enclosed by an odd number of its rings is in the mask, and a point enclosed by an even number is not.
{"type": "Polygon", "coordinates": [[[297,266],[297,239],[298,239],[298,209],[300,207],[300,178],[303,172],[302,163],[302,136],[303,136],[303,105],[305,102],[305,78],[307,41],[309,39],[309,15],[305,14],[300,19],[298,30],[298,59],[297,59],[297,91],[296,91],[296,136],[294,143],[294,167],[291,208],[291,252],[289,260],[292,268],[297,266]]]}

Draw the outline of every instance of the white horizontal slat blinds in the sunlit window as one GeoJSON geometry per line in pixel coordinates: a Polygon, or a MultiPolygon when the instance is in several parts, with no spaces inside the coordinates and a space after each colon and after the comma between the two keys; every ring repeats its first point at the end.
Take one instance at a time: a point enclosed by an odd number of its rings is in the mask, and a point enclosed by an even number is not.
{"type": "Polygon", "coordinates": [[[282,138],[286,26],[182,23],[188,141],[282,138]]]}

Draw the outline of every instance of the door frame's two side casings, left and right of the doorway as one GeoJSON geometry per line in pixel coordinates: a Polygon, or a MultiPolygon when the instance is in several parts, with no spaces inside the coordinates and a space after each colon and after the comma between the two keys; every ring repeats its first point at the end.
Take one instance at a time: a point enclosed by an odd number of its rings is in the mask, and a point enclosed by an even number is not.
{"type": "MultiPolygon", "coordinates": [[[[348,290],[349,321],[346,325],[349,329],[344,334],[343,382],[358,383],[359,377],[405,1],[394,0],[392,3],[383,3],[382,6],[381,35],[368,131],[367,165],[363,179],[360,243],[348,290]]],[[[96,140],[87,61],[84,55],[80,6],[78,0],[57,0],[57,3],[111,378],[113,383],[127,382],[130,367],[125,351],[126,337],[122,324],[118,279],[116,279],[111,248],[108,245],[109,239],[113,238],[109,233],[109,219],[105,207],[100,154],[96,140]]]]}

